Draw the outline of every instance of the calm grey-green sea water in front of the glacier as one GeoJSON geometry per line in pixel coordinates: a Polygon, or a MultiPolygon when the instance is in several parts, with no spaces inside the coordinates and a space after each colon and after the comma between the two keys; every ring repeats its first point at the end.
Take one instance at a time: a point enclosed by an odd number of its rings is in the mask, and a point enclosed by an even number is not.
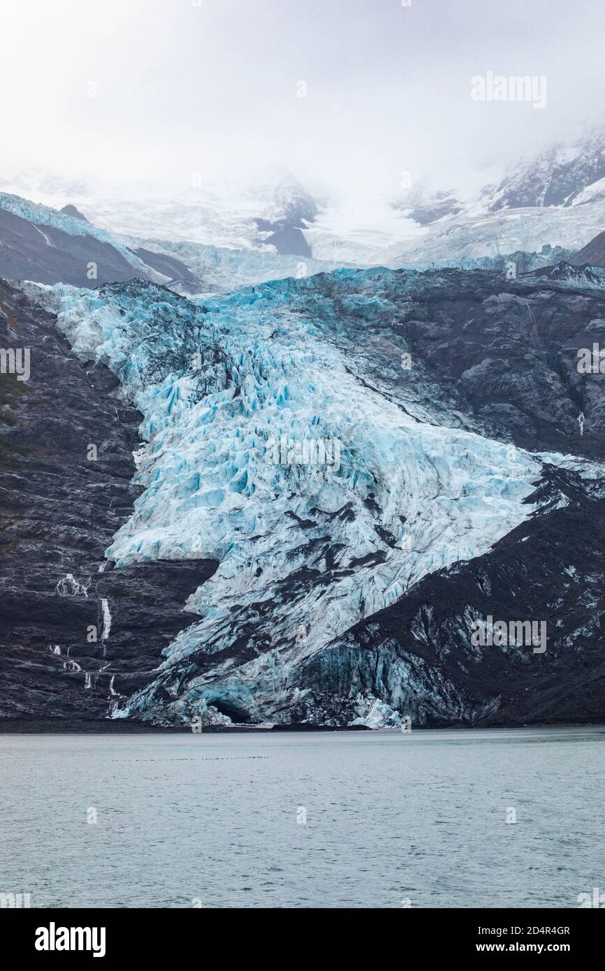
{"type": "Polygon", "coordinates": [[[604,727],[0,735],[0,766],[0,891],[32,907],[577,907],[605,889],[604,727]]]}

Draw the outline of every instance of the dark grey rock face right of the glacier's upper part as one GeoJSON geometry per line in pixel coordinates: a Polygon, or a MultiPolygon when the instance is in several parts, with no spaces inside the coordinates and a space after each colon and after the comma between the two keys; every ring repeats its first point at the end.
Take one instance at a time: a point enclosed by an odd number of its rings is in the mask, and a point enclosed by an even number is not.
{"type": "Polygon", "coordinates": [[[322,289],[333,310],[324,327],[377,384],[404,384],[450,420],[463,415],[482,434],[523,449],[601,459],[603,376],[577,368],[578,349],[605,342],[605,288],[592,285],[599,282],[598,271],[565,263],[515,280],[504,271],[368,271],[358,292],[378,289],[388,304],[362,317],[346,312],[327,277],[322,289]],[[410,353],[409,372],[402,352],[410,353]]]}

